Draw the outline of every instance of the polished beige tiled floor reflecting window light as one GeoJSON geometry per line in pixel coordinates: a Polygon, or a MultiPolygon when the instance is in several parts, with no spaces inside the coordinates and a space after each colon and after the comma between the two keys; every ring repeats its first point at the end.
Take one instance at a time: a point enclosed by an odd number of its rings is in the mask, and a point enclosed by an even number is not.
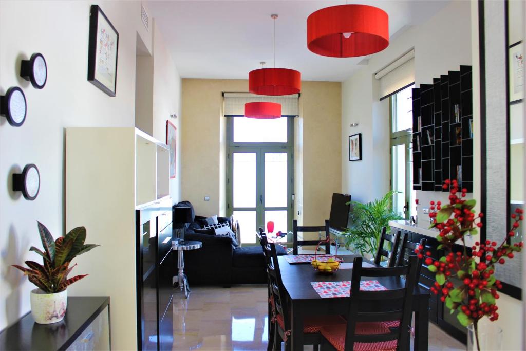
{"type": "MultiPolygon", "coordinates": [[[[265,285],[192,290],[189,299],[174,290],[173,350],[267,349],[265,285]]],[[[434,324],[429,324],[429,333],[430,351],[466,349],[434,324]]]]}

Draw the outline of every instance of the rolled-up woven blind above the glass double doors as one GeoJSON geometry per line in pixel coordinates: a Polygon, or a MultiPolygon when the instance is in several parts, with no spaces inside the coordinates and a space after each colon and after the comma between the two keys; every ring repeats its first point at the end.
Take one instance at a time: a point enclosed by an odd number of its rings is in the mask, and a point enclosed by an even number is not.
{"type": "Polygon", "coordinates": [[[245,115],[245,104],[266,101],[281,104],[281,116],[298,117],[299,94],[270,96],[250,93],[223,93],[225,117],[242,117],[245,115]]]}

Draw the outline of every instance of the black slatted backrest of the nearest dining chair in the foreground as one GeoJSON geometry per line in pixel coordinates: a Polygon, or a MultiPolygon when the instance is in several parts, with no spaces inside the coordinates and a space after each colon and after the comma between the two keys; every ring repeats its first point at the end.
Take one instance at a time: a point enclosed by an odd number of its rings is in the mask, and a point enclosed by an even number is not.
{"type": "MultiPolygon", "coordinates": [[[[411,300],[416,280],[417,257],[411,256],[407,266],[391,268],[362,268],[362,258],[356,257],[352,265],[351,298],[347,317],[347,334],[345,349],[354,349],[355,343],[382,343],[397,340],[397,350],[408,350],[407,344],[411,327],[411,300]],[[360,290],[361,277],[396,278],[406,276],[403,287],[383,291],[360,290]],[[371,300],[377,304],[371,304],[371,300]],[[367,301],[367,304],[364,302],[367,301]],[[377,306],[374,310],[361,306],[377,306]],[[356,334],[356,322],[390,322],[399,320],[397,328],[390,328],[389,333],[356,334]]],[[[385,280],[384,280],[385,281],[385,280]]],[[[370,331],[369,331],[370,332],[370,331]]]]}

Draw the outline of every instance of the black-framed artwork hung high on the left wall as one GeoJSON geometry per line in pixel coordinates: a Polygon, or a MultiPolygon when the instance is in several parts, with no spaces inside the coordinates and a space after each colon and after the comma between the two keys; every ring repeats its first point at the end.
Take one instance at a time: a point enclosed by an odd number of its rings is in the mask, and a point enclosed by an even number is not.
{"type": "Polygon", "coordinates": [[[89,11],[88,81],[115,96],[119,33],[98,5],[89,11]]]}

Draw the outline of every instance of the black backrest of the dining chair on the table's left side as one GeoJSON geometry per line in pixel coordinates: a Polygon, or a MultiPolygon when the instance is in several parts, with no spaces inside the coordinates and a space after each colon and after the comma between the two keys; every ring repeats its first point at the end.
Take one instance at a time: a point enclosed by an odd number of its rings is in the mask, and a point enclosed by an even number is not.
{"type": "Polygon", "coordinates": [[[276,313],[281,315],[285,327],[287,328],[287,326],[290,326],[290,315],[287,306],[287,295],[285,293],[285,287],[281,280],[281,272],[279,270],[276,244],[266,243],[263,245],[263,253],[265,255],[265,268],[267,269],[269,292],[274,299],[276,313]]]}

